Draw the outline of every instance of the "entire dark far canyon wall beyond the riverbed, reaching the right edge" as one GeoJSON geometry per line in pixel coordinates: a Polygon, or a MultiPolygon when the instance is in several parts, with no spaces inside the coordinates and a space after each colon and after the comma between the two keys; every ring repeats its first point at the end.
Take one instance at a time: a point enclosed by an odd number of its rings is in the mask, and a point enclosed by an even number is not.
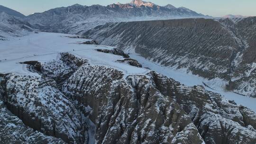
{"type": "Polygon", "coordinates": [[[255,97],[255,17],[109,23],[84,33],[156,63],[229,81],[227,89],[255,97]]]}

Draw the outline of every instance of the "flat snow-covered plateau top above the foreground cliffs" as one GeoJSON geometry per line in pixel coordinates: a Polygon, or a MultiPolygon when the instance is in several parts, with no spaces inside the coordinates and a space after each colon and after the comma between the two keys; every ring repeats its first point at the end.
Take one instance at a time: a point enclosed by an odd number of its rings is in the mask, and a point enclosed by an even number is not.
{"type": "Polygon", "coordinates": [[[20,62],[47,62],[57,60],[62,52],[69,52],[89,60],[89,63],[104,65],[122,71],[124,75],[146,74],[149,70],[137,68],[126,63],[118,63],[122,56],[97,52],[95,49],[113,49],[103,45],[78,44],[89,39],[69,38],[73,36],[59,33],[30,34],[23,37],[0,41],[0,73],[19,73],[35,75],[27,71],[26,64],[20,62]]]}

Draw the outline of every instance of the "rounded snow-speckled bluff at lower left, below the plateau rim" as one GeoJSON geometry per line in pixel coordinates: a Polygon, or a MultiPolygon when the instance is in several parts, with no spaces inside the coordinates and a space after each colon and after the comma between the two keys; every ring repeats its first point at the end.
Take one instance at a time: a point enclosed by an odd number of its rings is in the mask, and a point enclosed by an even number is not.
{"type": "Polygon", "coordinates": [[[26,126],[62,138],[67,143],[82,143],[81,114],[56,89],[55,81],[15,74],[9,74],[5,79],[6,106],[26,126]]]}

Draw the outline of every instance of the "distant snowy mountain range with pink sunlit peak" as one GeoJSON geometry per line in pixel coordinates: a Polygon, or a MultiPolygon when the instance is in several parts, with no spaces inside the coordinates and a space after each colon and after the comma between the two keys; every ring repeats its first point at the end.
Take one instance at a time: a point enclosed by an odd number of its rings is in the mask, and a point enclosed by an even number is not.
{"type": "Polygon", "coordinates": [[[29,15],[26,21],[46,31],[79,34],[107,22],[198,17],[206,16],[183,7],[162,7],[151,2],[133,0],[127,4],[108,6],[75,4],[29,15]]]}

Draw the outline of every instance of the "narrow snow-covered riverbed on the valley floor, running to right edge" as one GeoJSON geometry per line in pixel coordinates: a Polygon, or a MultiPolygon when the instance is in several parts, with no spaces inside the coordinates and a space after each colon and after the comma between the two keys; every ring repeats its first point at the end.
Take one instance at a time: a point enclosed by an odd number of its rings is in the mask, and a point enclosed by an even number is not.
{"type": "Polygon", "coordinates": [[[251,108],[256,112],[256,98],[246,97],[239,94],[236,94],[231,91],[224,90],[223,86],[226,84],[226,81],[220,79],[207,80],[200,76],[193,75],[192,73],[187,73],[186,70],[180,69],[176,70],[174,68],[165,67],[157,63],[153,63],[142,56],[139,56],[135,53],[129,54],[133,59],[136,59],[143,67],[148,67],[155,72],[159,72],[169,78],[172,78],[176,81],[181,82],[186,86],[202,85],[206,90],[219,93],[223,95],[226,99],[234,100],[237,104],[251,108]],[[208,85],[205,86],[203,83],[208,85]]]}

